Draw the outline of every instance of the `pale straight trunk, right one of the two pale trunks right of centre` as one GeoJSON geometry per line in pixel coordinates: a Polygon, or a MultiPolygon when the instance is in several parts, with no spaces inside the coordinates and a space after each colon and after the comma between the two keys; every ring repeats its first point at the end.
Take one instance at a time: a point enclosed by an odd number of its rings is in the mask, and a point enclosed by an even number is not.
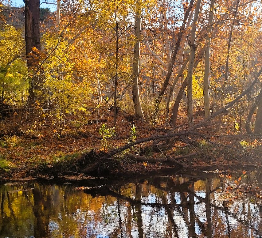
{"type": "Polygon", "coordinates": [[[214,11],[215,0],[210,2],[210,11],[208,17],[208,28],[206,36],[206,48],[205,48],[205,74],[204,74],[204,87],[203,87],[203,96],[204,96],[204,106],[205,106],[205,117],[211,115],[210,113],[210,103],[209,103],[209,85],[210,85],[210,43],[211,43],[211,32],[212,32],[212,23],[213,23],[213,11],[214,11]]]}

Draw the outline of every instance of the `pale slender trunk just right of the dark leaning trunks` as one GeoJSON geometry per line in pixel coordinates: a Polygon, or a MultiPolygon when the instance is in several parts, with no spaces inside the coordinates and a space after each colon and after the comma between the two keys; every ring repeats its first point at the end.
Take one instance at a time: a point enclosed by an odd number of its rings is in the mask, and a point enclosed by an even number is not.
{"type": "Polygon", "coordinates": [[[197,29],[197,21],[200,10],[201,0],[197,0],[194,20],[191,29],[191,37],[190,37],[190,58],[187,69],[187,121],[189,127],[194,125],[194,117],[193,117],[193,99],[192,99],[192,79],[193,79],[193,67],[194,60],[196,55],[196,29],[197,29]]]}

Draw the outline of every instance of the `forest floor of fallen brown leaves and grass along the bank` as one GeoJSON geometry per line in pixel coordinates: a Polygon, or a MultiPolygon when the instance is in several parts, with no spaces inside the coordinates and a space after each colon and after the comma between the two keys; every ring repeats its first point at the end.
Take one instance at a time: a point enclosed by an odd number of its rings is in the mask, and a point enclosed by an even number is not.
{"type": "MultiPolygon", "coordinates": [[[[179,123],[186,121],[186,117],[179,115],[179,123]]],[[[198,120],[202,118],[199,117],[198,120]]],[[[8,120],[8,119],[7,119],[8,120]]],[[[83,172],[85,163],[83,155],[89,153],[99,154],[111,149],[123,146],[131,139],[151,137],[156,134],[164,134],[169,130],[166,124],[154,126],[148,121],[134,119],[119,112],[117,119],[116,134],[109,132],[99,133],[101,126],[105,124],[109,129],[113,127],[113,117],[111,113],[106,113],[102,121],[92,122],[94,115],[89,115],[86,125],[73,123],[74,117],[68,119],[64,134],[58,136],[57,129],[52,125],[52,119],[45,119],[45,123],[38,119],[28,119],[21,128],[23,133],[18,136],[6,136],[0,140],[0,179],[33,179],[33,178],[69,178],[84,179],[92,176],[103,176],[106,174],[118,174],[123,172],[147,173],[151,171],[161,171],[166,168],[191,167],[217,167],[236,165],[260,165],[262,159],[262,139],[245,136],[239,137],[235,130],[230,130],[232,125],[218,129],[216,122],[200,129],[197,132],[209,135],[208,142],[203,137],[196,137],[194,146],[189,146],[185,142],[178,140],[173,148],[163,151],[163,149],[150,149],[152,142],[144,142],[133,146],[131,149],[114,156],[107,166],[105,172],[101,169],[98,173],[83,172]],[[134,123],[135,131],[131,133],[131,126],[134,123]],[[110,134],[111,137],[102,140],[103,133],[110,134]],[[102,134],[102,136],[101,136],[102,134]],[[213,135],[213,136],[210,136],[213,135]],[[218,136],[220,135],[220,136],[218,136]],[[223,135],[223,136],[221,136],[223,135]],[[136,136],[136,138],[135,138],[136,136]],[[143,151],[145,160],[135,161],[126,159],[126,154],[139,155],[143,151]],[[192,156],[186,157],[187,154],[192,156]],[[163,161],[163,158],[166,160],[163,161]],[[168,158],[177,158],[178,163],[173,163],[168,158]],[[148,160],[150,159],[150,162],[148,160]],[[153,161],[152,161],[153,159],[153,161]],[[156,162],[154,162],[154,159],[156,162]],[[162,161],[158,161],[162,159],[162,161]],[[81,168],[83,167],[83,168],[81,168]]],[[[3,121],[2,133],[8,130],[12,120],[3,121]]],[[[183,127],[181,127],[183,128],[183,127]]],[[[238,132],[239,134],[239,132],[238,132]]],[[[191,140],[192,138],[187,138],[191,140]]],[[[170,139],[169,139],[170,140],[170,139]]],[[[161,145],[161,144],[160,144],[161,145]]],[[[89,160],[92,165],[91,160],[89,160]]],[[[94,162],[93,162],[94,163],[94,162]]],[[[105,165],[107,161],[103,162],[105,165]]],[[[91,166],[90,165],[90,166],[91,166]]]]}

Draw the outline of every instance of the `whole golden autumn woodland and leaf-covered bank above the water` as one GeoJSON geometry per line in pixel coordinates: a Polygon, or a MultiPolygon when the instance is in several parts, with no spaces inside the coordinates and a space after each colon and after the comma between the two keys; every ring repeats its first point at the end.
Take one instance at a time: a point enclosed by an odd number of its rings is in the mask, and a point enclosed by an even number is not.
{"type": "Polygon", "coordinates": [[[259,1],[47,3],[0,3],[2,177],[260,163],[259,1]]]}

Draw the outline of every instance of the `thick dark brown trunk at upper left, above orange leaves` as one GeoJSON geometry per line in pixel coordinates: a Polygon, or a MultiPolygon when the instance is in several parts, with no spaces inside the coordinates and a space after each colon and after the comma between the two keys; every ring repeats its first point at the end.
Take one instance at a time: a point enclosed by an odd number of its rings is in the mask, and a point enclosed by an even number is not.
{"type": "MultiPolygon", "coordinates": [[[[40,2],[39,0],[25,0],[25,51],[26,55],[36,47],[41,50],[40,44],[40,2]]],[[[32,67],[32,62],[27,58],[28,68],[32,67]]]]}

